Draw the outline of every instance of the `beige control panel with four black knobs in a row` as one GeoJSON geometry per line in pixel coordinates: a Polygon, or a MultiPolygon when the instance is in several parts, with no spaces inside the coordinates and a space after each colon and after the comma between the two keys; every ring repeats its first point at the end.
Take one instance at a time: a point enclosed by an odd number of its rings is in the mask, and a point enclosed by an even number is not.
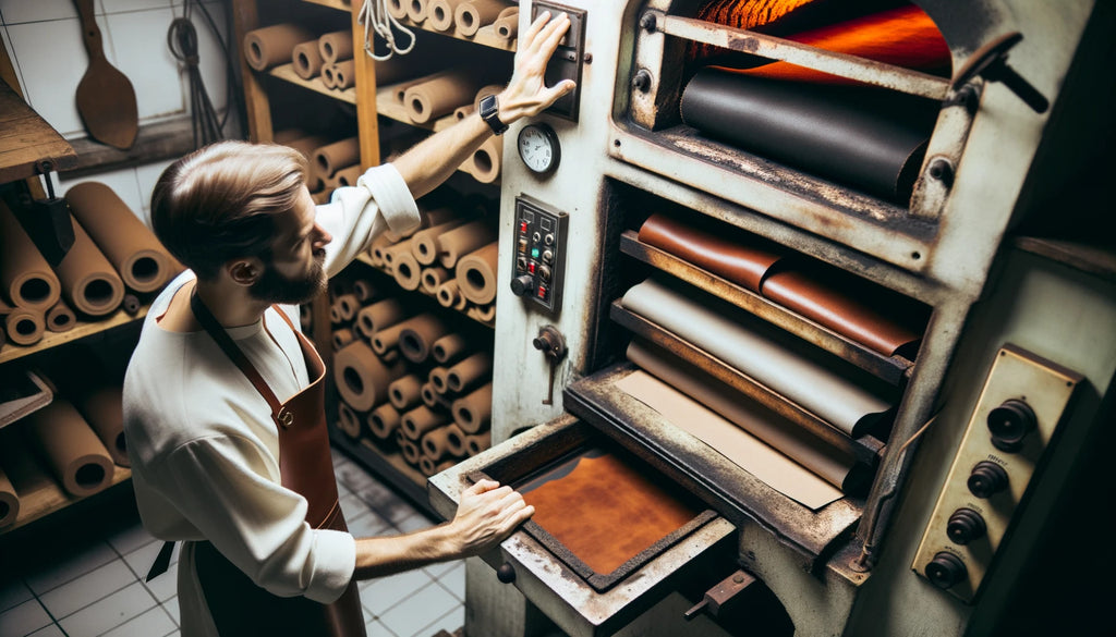
{"type": "Polygon", "coordinates": [[[1081,376],[1012,345],[997,354],[912,568],[972,601],[1081,376]]]}

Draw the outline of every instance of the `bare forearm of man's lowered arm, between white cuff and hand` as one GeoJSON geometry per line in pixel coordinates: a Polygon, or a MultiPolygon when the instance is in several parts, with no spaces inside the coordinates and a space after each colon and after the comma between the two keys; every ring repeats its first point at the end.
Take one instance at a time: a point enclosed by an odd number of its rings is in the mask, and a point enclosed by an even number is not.
{"type": "Polygon", "coordinates": [[[454,541],[448,524],[405,535],[357,538],[353,577],[358,580],[381,578],[463,557],[460,542],[454,541]]]}

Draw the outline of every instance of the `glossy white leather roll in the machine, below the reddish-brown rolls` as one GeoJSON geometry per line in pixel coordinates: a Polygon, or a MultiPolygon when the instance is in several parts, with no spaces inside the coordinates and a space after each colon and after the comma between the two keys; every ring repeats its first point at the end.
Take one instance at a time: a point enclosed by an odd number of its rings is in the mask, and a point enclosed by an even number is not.
{"type": "Polygon", "coordinates": [[[878,380],[692,286],[647,279],[622,303],[846,435],[860,435],[892,408],[878,380]]]}

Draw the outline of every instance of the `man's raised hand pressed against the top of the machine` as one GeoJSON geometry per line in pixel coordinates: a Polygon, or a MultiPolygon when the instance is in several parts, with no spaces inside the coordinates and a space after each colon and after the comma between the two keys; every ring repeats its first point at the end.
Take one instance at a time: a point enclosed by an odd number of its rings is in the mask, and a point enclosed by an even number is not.
{"type": "Polygon", "coordinates": [[[538,115],[561,96],[574,90],[575,83],[564,79],[548,87],[543,75],[547,62],[558,48],[558,42],[569,29],[569,16],[559,15],[554,20],[543,11],[519,38],[516,69],[511,81],[499,96],[500,119],[512,123],[520,117],[538,115]]]}

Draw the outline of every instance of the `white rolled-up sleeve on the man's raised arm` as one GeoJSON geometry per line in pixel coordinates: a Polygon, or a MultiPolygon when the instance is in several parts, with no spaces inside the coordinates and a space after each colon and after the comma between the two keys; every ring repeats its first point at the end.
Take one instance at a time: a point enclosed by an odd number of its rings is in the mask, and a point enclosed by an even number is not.
{"type": "Polygon", "coordinates": [[[326,272],[340,272],[368,249],[385,230],[406,234],[422,223],[422,215],[406,182],[395,166],[368,168],[356,185],[334,191],[329,203],[319,205],[318,223],[334,235],[326,247],[326,272]]]}

